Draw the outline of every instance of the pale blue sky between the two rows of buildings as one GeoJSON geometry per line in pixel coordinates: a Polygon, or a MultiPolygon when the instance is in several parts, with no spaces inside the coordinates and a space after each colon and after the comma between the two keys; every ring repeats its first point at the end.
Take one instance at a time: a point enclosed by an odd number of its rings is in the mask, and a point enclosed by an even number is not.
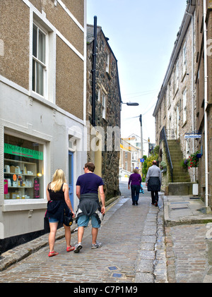
{"type": "Polygon", "coordinates": [[[98,25],[109,38],[118,61],[122,102],[121,135],[141,135],[155,143],[153,111],[163,84],[187,0],[87,0],[87,23],[98,25]]]}

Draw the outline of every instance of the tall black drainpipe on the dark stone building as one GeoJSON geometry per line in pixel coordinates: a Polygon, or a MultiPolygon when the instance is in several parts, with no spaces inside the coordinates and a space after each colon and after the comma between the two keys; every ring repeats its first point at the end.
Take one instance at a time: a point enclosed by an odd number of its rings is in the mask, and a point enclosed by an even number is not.
{"type": "Polygon", "coordinates": [[[95,65],[96,65],[96,44],[97,44],[97,17],[94,17],[94,26],[93,26],[93,88],[92,88],[92,125],[95,127],[95,65]]]}

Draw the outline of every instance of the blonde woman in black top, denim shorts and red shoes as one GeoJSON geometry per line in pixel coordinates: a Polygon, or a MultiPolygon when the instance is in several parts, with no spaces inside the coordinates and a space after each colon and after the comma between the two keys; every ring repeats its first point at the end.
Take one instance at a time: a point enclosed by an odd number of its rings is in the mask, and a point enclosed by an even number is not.
{"type": "MultiPolygon", "coordinates": [[[[74,217],[73,208],[69,199],[69,186],[66,183],[66,176],[64,171],[57,169],[54,172],[52,182],[47,186],[47,213],[46,217],[49,218],[49,257],[58,255],[54,251],[54,242],[57,232],[58,223],[64,222],[64,210],[66,213],[69,210],[72,212],[74,217]]],[[[66,251],[71,252],[75,248],[71,246],[71,229],[70,226],[64,225],[65,238],[66,238],[66,251]]]]}

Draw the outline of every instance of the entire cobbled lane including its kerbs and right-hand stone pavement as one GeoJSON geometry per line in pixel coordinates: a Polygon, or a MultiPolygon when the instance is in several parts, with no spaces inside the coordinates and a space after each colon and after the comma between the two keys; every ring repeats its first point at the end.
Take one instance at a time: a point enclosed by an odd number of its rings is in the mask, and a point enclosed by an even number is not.
{"type": "MultiPolygon", "coordinates": [[[[160,195],[155,207],[144,187],[139,205],[131,205],[126,183],[121,191],[107,207],[98,234],[102,248],[91,249],[88,225],[81,252],[67,253],[59,229],[55,257],[47,256],[48,234],[2,254],[0,283],[211,283],[212,216],[197,212],[202,202],[160,195]],[[190,217],[176,211],[181,204],[190,217]]],[[[74,232],[71,244],[76,242],[74,232]]]]}

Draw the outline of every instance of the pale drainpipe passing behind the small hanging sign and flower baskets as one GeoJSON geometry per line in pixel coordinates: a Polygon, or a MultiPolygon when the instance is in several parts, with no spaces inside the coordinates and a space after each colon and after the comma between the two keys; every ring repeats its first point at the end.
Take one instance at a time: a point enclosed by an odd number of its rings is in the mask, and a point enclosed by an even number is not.
{"type": "MultiPolygon", "coordinates": [[[[186,12],[192,17],[192,131],[194,132],[194,14],[186,12]]],[[[195,140],[192,139],[193,152],[195,151],[195,140]]],[[[195,168],[193,168],[193,181],[196,180],[195,168]]]]}

